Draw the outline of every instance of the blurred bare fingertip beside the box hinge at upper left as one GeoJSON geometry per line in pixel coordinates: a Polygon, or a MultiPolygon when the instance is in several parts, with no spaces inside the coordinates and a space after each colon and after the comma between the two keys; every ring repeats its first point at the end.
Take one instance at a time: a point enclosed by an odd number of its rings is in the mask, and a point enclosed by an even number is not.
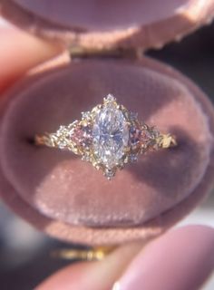
{"type": "Polygon", "coordinates": [[[0,91],[36,64],[60,53],[61,49],[58,44],[20,30],[0,29],[0,91]]]}

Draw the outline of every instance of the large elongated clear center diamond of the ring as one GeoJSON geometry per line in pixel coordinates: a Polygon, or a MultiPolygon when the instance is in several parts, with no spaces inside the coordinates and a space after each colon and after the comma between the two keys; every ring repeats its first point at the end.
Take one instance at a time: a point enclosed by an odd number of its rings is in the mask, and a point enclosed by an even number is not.
{"type": "Polygon", "coordinates": [[[120,164],[129,142],[127,121],[111,97],[95,114],[92,128],[94,156],[107,169],[120,164]]]}

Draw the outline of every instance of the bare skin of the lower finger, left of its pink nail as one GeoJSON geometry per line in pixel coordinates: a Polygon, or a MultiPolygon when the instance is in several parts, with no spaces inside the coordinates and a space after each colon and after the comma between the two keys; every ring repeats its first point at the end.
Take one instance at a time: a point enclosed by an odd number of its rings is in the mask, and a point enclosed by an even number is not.
{"type": "Polygon", "coordinates": [[[141,250],[141,243],[123,246],[101,262],[67,266],[47,278],[35,290],[110,290],[125,267],[141,250]]]}

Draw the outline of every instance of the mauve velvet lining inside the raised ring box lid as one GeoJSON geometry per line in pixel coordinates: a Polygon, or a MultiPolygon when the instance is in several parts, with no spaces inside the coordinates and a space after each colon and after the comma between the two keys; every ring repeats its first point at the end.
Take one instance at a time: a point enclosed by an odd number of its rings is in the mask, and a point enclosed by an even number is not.
{"type": "Polygon", "coordinates": [[[158,22],[175,14],[183,5],[190,3],[190,0],[14,0],[14,2],[56,24],[101,31],[158,22]]]}

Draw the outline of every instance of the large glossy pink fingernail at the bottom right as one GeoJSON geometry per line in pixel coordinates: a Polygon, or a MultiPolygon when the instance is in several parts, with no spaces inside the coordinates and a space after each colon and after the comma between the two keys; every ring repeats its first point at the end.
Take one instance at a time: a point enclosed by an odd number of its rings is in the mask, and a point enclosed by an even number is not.
{"type": "Polygon", "coordinates": [[[199,289],[213,270],[214,229],[182,227],[145,247],[112,290],[199,289]]]}

